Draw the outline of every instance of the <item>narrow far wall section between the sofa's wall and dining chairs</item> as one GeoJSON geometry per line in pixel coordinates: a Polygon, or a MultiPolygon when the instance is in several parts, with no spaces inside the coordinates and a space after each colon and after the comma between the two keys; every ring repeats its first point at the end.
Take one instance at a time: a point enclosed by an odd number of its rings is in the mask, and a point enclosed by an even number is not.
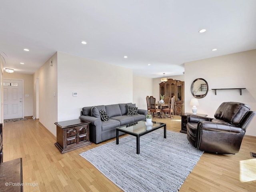
{"type": "Polygon", "coordinates": [[[153,79],[133,76],[133,103],[139,109],[147,110],[146,96],[153,95],[153,79]]]}

